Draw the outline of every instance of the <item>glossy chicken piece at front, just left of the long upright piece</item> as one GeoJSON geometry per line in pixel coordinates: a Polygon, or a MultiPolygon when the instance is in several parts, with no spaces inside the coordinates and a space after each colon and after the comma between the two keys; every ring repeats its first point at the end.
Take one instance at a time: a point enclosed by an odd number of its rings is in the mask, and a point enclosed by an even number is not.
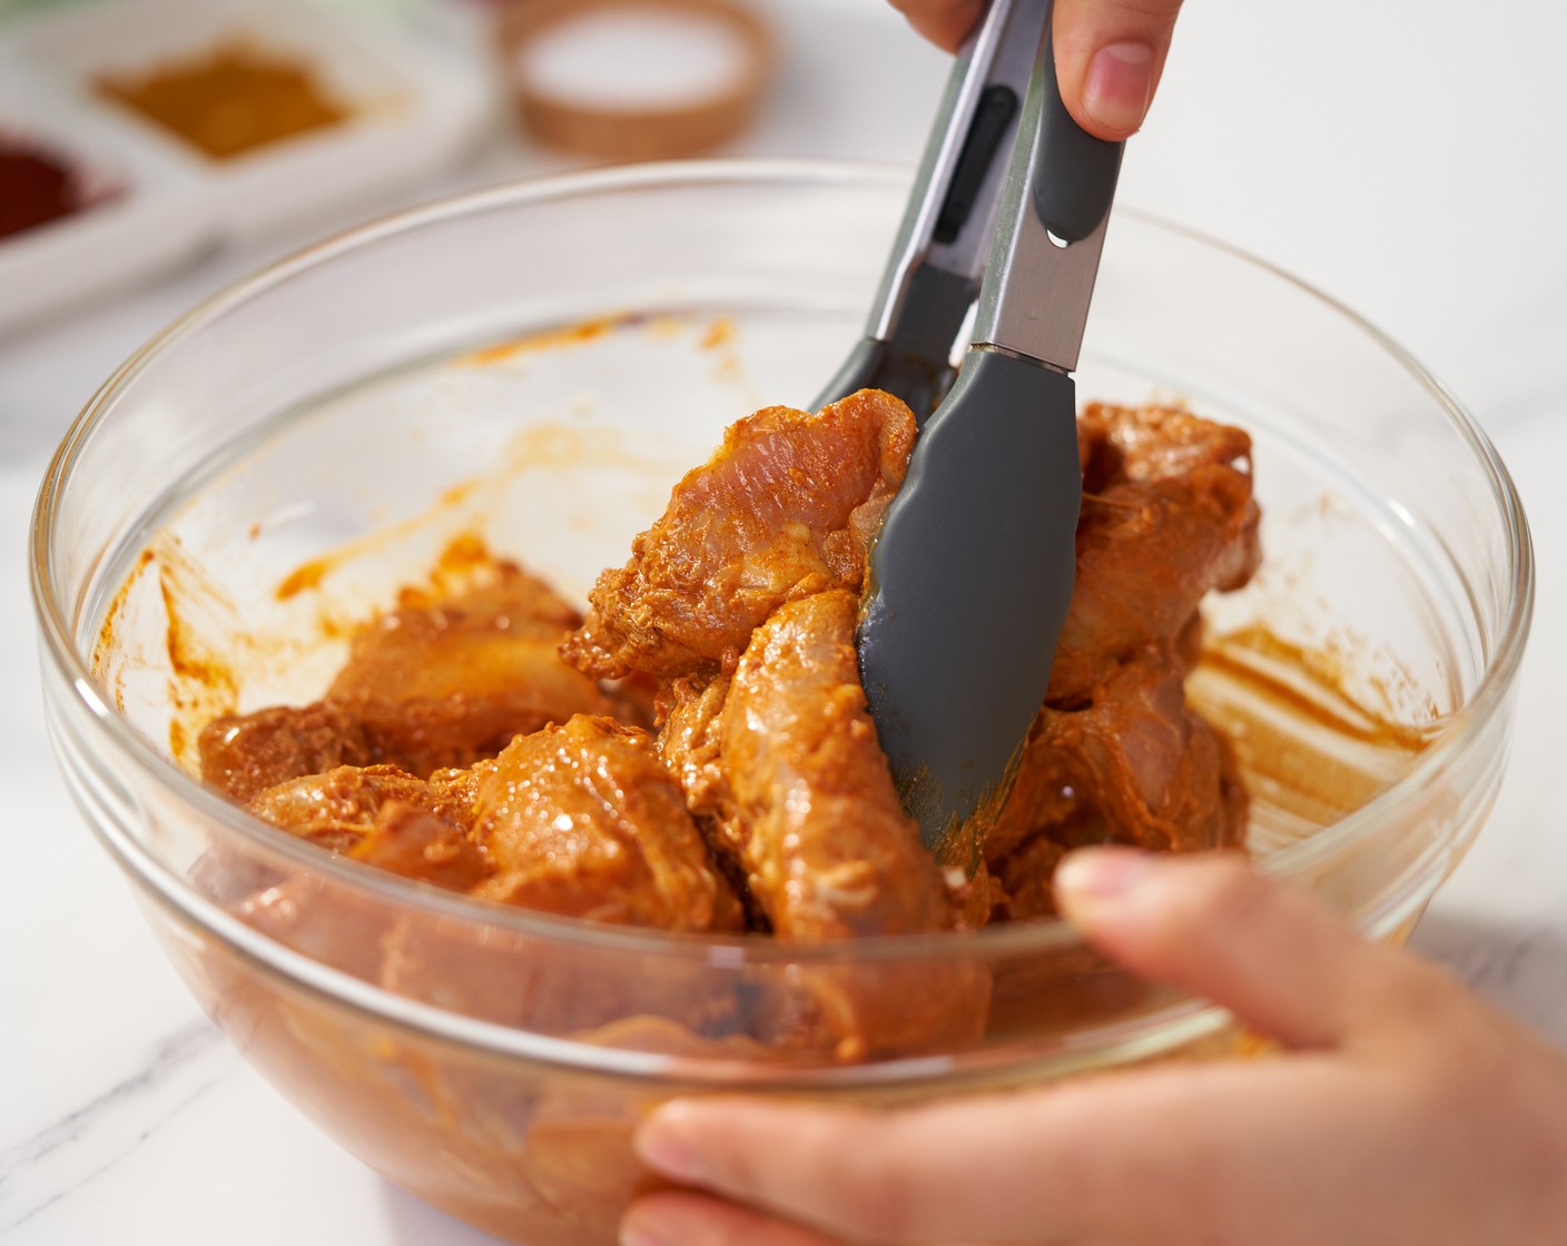
{"type": "Polygon", "coordinates": [[[475,895],[595,922],[741,928],[740,904],[642,730],[578,715],[519,737],[461,790],[495,867],[475,895]]]}

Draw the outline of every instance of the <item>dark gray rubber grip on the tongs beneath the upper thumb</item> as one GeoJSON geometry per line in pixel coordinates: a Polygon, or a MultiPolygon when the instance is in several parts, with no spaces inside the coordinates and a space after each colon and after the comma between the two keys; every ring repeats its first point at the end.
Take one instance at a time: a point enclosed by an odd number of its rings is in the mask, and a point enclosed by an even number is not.
{"type": "MultiPolygon", "coordinates": [[[[1051,5],[1051,9],[1055,6],[1051,5]]],[[[1039,223],[1061,241],[1077,243],[1109,215],[1125,144],[1094,138],[1061,100],[1050,17],[1044,39],[1044,114],[1034,133],[1034,182],[1030,188],[1039,223]]]]}

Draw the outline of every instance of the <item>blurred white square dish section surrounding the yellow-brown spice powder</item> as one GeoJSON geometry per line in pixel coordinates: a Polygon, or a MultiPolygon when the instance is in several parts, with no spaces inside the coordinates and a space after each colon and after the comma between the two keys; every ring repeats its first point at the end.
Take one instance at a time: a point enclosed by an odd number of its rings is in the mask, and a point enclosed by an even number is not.
{"type": "Polygon", "coordinates": [[[135,146],[191,177],[226,238],[414,187],[467,154],[494,116],[470,58],[390,17],[312,0],[114,0],[41,13],[0,31],[0,80],[45,113],[113,118],[135,146]],[[103,75],[136,75],[223,45],[302,61],[351,116],[213,160],[103,99],[103,75]]]}

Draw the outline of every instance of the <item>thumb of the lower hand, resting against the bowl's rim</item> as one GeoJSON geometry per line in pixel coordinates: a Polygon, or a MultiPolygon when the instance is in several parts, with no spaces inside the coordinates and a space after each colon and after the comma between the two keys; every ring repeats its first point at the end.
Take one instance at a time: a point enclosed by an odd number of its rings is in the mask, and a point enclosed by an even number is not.
{"type": "Polygon", "coordinates": [[[1417,1008],[1426,967],[1360,939],[1236,853],[1084,848],[1056,870],[1062,915],[1116,961],[1213,1000],[1287,1047],[1341,1047],[1417,1008]]]}

